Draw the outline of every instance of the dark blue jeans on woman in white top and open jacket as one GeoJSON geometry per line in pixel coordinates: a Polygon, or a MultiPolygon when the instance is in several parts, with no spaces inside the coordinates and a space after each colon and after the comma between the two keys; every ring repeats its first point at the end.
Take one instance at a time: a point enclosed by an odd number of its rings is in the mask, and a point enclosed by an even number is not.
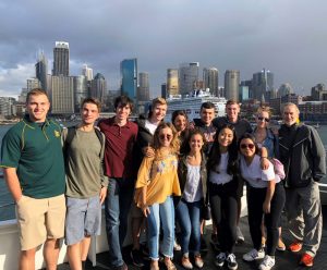
{"type": "Polygon", "coordinates": [[[181,226],[181,247],[182,255],[189,255],[190,240],[192,237],[192,247],[194,255],[199,254],[201,247],[201,229],[199,217],[203,200],[187,202],[181,199],[177,206],[177,219],[181,226]]]}

